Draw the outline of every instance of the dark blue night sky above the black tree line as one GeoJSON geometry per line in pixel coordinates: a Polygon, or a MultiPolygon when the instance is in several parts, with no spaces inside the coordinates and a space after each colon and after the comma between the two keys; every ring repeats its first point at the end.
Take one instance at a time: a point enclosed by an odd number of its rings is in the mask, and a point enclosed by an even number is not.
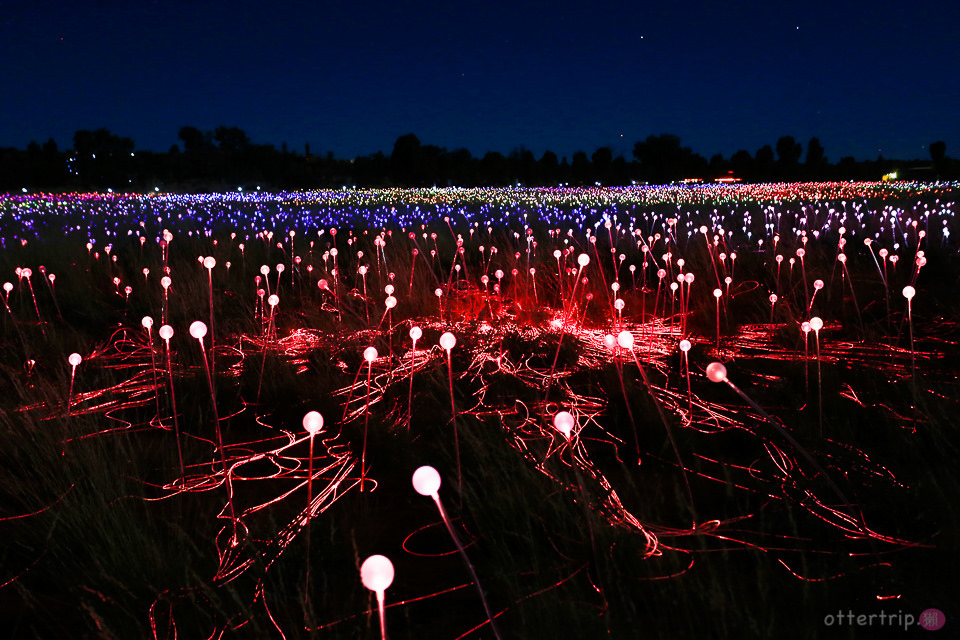
{"type": "Polygon", "coordinates": [[[337,157],[396,138],[571,156],[675,133],[729,157],[960,153],[960,3],[3,0],[0,146],[183,125],[337,157]],[[804,149],[805,151],[805,149],[804,149]]]}

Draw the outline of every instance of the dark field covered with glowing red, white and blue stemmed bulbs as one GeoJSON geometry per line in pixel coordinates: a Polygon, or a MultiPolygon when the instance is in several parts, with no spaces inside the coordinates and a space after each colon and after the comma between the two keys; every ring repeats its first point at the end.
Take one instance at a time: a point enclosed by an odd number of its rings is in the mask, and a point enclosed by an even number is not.
{"type": "Polygon", "coordinates": [[[950,624],[958,194],[0,196],[4,635],[950,624]]]}

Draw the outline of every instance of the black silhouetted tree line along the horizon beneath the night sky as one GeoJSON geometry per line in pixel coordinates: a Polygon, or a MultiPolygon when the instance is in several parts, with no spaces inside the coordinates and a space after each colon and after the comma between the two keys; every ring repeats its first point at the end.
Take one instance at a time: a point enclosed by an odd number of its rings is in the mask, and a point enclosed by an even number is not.
{"type": "Polygon", "coordinates": [[[253,144],[238,127],[201,131],[185,126],[178,144],[166,153],[135,151],[127,137],[101,128],[80,130],[73,146],[61,151],[51,138],[31,142],[25,150],[0,148],[0,191],[86,190],[165,191],[380,186],[523,186],[661,184],[687,178],[711,182],[736,178],[744,182],[798,180],[876,180],[896,171],[900,179],[937,180],[960,177],[960,161],[947,157],[946,144],[929,145],[930,158],[831,163],[823,145],[810,138],[803,145],[783,136],[775,146],[754,152],[741,149],[730,157],[709,160],[694,153],[673,134],[648,136],[633,146],[631,157],[600,147],[589,156],[577,151],[569,159],[546,151],[537,158],[517,147],[508,155],[490,151],[474,157],[467,149],[448,150],[422,144],[412,133],[397,138],[389,155],[376,152],[351,160],[332,153],[314,155],[273,145],[253,144]]]}

